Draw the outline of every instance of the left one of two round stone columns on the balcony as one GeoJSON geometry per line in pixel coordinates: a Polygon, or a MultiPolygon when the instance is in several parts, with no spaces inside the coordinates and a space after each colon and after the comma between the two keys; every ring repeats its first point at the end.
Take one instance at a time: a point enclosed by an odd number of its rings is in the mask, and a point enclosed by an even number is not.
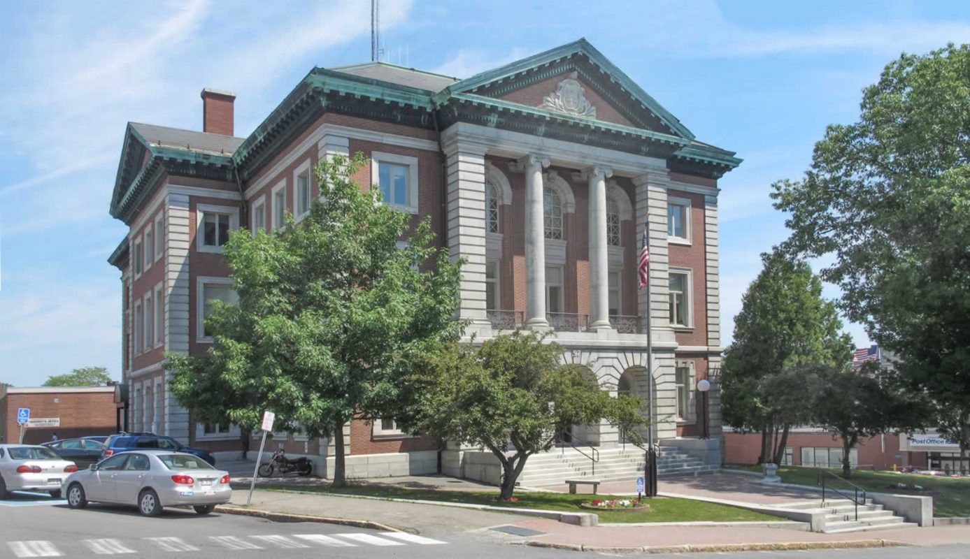
{"type": "Polygon", "coordinates": [[[527,155],[515,165],[526,173],[526,327],[549,326],[545,308],[545,225],[542,169],[549,160],[527,155]]]}

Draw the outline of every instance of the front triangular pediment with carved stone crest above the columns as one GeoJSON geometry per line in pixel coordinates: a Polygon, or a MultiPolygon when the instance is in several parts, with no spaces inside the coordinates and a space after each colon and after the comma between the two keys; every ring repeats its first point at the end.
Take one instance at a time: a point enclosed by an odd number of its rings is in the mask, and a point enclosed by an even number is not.
{"type": "Polygon", "coordinates": [[[448,90],[694,140],[687,127],[585,39],[463,79],[448,90]]]}

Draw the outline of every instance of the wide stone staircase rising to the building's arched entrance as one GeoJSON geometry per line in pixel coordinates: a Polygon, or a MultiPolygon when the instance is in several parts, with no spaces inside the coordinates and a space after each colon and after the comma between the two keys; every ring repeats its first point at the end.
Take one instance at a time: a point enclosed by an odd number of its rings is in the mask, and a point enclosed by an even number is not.
{"type": "MultiPolygon", "coordinates": [[[[581,450],[591,453],[587,447],[581,450]]],[[[643,475],[643,450],[630,445],[626,450],[623,447],[597,450],[599,461],[595,467],[589,456],[569,447],[530,456],[519,476],[519,484],[526,487],[563,485],[564,481],[577,478],[602,482],[633,481],[643,475]]],[[[657,466],[661,477],[696,476],[719,470],[717,466],[708,466],[675,447],[661,447],[657,453],[657,466]]]]}

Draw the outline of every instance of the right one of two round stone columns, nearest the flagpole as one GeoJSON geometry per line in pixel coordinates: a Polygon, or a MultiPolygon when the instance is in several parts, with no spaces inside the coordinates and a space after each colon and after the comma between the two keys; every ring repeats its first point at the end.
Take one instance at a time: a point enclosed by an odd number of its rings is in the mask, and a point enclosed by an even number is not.
{"type": "Polygon", "coordinates": [[[613,171],[592,167],[583,172],[590,189],[590,326],[609,328],[609,249],[606,241],[606,179],[613,171]]]}

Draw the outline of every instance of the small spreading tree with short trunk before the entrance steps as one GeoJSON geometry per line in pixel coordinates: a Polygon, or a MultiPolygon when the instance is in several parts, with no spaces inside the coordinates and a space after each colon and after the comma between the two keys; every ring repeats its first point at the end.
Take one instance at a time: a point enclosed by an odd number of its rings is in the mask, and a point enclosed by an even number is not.
{"type": "Polygon", "coordinates": [[[408,420],[421,432],[491,450],[508,500],[529,457],[551,449],[570,425],[607,419],[636,437],[645,424],[638,399],[613,398],[590,377],[585,367],[563,364],[560,345],[532,332],[478,348],[453,344],[419,367],[423,396],[408,420]]]}

